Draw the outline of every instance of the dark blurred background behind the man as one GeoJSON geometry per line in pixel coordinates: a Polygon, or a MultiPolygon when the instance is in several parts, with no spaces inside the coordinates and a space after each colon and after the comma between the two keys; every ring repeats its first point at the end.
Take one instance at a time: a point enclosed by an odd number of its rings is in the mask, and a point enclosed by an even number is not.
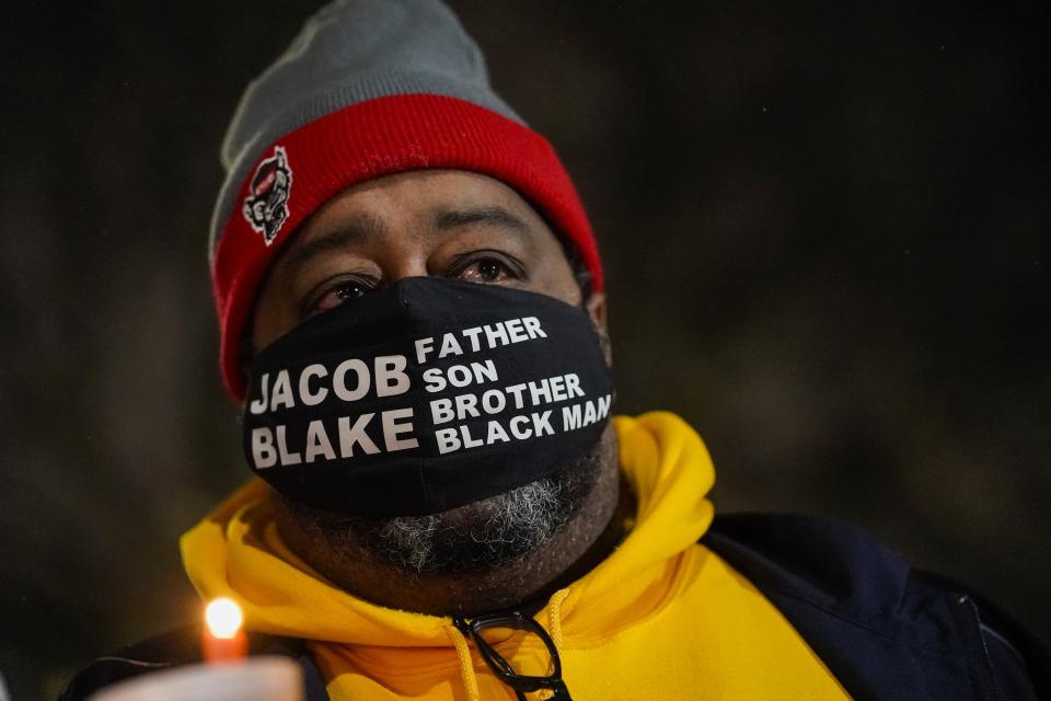
{"type": "MultiPolygon", "coordinates": [[[[718,508],[861,525],[1048,637],[1047,3],[882,4],[454,3],[591,212],[619,411],[690,420],[718,508]]],[[[206,263],[218,147],[299,5],[0,10],[18,700],[198,612],[176,538],[247,476],[206,263]]]]}

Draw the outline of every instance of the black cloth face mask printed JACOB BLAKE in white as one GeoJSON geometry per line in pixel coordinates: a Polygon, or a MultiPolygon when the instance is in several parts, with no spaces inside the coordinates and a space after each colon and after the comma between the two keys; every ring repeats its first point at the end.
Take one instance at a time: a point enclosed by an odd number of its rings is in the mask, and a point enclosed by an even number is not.
{"type": "Polygon", "coordinates": [[[405,278],[259,354],[249,466],[278,492],[360,516],[447,510],[587,455],[613,384],[588,314],[546,295],[405,278]]]}

